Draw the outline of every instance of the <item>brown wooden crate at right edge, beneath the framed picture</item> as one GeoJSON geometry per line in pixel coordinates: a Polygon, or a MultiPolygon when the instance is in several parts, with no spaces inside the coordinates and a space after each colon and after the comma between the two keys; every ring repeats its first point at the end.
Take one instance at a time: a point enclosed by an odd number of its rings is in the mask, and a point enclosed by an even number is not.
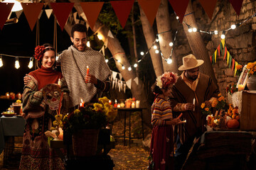
{"type": "Polygon", "coordinates": [[[252,91],[242,91],[240,130],[256,130],[256,93],[252,91]]]}

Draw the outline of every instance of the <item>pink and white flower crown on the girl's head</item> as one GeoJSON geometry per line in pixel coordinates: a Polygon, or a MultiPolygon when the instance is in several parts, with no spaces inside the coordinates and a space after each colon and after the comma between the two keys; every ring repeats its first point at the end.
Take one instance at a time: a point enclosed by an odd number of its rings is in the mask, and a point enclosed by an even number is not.
{"type": "Polygon", "coordinates": [[[165,72],[156,79],[156,86],[159,86],[160,89],[164,89],[171,84],[175,84],[178,79],[178,75],[174,72],[165,72]]]}

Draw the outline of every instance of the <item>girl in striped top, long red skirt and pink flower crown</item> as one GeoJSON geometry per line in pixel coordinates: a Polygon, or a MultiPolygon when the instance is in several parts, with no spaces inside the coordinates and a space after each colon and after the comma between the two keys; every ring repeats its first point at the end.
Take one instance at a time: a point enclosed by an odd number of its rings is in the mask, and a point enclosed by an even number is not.
{"type": "Polygon", "coordinates": [[[174,129],[173,125],[182,123],[173,118],[169,95],[178,76],[165,72],[157,77],[154,84],[156,98],[151,106],[151,123],[154,126],[151,137],[149,169],[174,169],[174,129]]]}

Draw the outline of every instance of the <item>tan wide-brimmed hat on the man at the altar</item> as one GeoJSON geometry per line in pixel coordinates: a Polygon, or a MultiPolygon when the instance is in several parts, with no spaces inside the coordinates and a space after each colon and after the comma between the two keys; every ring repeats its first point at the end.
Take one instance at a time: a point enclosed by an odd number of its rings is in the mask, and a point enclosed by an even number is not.
{"type": "Polygon", "coordinates": [[[181,67],[178,67],[179,71],[193,69],[203,64],[203,60],[196,60],[196,57],[194,55],[187,55],[183,57],[182,62],[183,62],[183,65],[181,65],[181,67]]]}

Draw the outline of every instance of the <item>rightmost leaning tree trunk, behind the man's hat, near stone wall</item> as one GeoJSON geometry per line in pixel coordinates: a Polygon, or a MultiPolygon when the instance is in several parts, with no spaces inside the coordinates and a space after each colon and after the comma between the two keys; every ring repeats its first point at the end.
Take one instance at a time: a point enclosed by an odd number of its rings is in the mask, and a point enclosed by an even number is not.
{"type": "Polygon", "coordinates": [[[204,63],[200,66],[200,71],[210,76],[210,78],[213,79],[215,84],[218,85],[217,80],[215,78],[215,74],[213,72],[213,67],[210,63],[208,50],[206,49],[206,45],[203,42],[201,33],[199,32],[188,33],[188,26],[186,26],[186,23],[192,27],[198,28],[198,26],[196,25],[196,18],[193,14],[191,1],[189,1],[188,8],[186,9],[186,14],[188,13],[191,13],[191,14],[189,14],[188,16],[185,16],[183,18],[183,23],[182,23],[184,31],[186,33],[186,37],[188,38],[188,43],[191,47],[193,55],[195,55],[197,59],[201,59],[204,61],[204,63]]]}

